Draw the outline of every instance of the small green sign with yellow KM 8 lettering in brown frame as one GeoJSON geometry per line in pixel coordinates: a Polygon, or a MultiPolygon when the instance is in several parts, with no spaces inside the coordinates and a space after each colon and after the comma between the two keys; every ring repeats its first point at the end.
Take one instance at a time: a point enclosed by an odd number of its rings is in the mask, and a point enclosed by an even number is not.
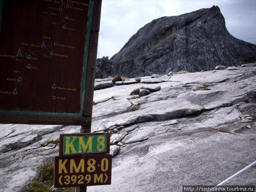
{"type": "Polygon", "coordinates": [[[110,150],[110,133],[60,134],[60,157],[106,154],[110,150]]]}

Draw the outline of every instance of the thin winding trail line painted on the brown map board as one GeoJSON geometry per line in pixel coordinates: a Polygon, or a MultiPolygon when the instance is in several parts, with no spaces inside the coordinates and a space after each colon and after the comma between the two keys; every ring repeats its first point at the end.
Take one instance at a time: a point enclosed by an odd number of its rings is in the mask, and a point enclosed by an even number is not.
{"type": "MultiPolygon", "coordinates": [[[[50,46],[47,47],[47,48],[44,48],[44,49],[36,50],[36,51],[34,51],[34,52],[25,52],[24,54],[22,54],[22,57],[23,57],[25,60],[23,61],[23,70],[22,70],[22,74],[21,74],[20,77],[19,77],[19,78],[20,78],[20,81],[18,80],[18,82],[15,82],[15,89],[14,89],[14,92],[13,92],[14,95],[18,94],[18,84],[20,84],[20,85],[22,85],[22,86],[25,86],[25,85],[27,84],[27,82],[24,82],[23,75],[24,75],[24,72],[25,72],[26,61],[27,61],[27,59],[31,59],[30,54],[32,54],[33,56],[47,55],[47,54],[49,54],[49,52],[52,51],[52,49],[53,49],[54,40],[56,40],[56,39],[58,39],[58,38],[60,37],[61,28],[64,29],[64,28],[61,27],[61,26],[63,25],[63,23],[65,23],[65,21],[64,21],[64,19],[63,19],[63,18],[64,18],[64,17],[63,17],[63,12],[64,12],[64,9],[65,9],[65,7],[66,7],[65,2],[63,2],[63,0],[61,1],[61,4],[63,4],[63,7],[61,8],[61,14],[58,15],[59,18],[61,19],[61,20],[60,20],[60,25],[59,25],[59,32],[58,32],[58,34],[57,34],[57,37],[52,38],[52,41],[51,41],[50,46]],[[44,50],[48,50],[48,51],[45,52],[45,53],[38,53],[38,52],[42,52],[42,51],[44,51],[44,50]],[[38,53],[38,54],[37,54],[37,53],[38,53]]],[[[19,51],[20,51],[20,50],[19,50],[19,51]]],[[[53,54],[54,54],[54,53],[53,53],[53,54]]]]}

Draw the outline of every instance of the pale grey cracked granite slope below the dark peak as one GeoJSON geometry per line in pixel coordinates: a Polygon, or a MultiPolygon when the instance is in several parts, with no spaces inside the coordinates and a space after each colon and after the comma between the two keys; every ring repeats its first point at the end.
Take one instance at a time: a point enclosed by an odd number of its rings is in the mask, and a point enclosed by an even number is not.
{"type": "MultiPolygon", "coordinates": [[[[112,184],[87,192],[180,192],[217,185],[256,161],[255,65],[96,79],[91,131],[111,133],[112,184]]],[[[1,124],[0,192],[22,192],[59,153],[60,133],[79,131],[1,124]]],[[[254,166],[225,185],[256,185],[255,178],[254,166]]]]}

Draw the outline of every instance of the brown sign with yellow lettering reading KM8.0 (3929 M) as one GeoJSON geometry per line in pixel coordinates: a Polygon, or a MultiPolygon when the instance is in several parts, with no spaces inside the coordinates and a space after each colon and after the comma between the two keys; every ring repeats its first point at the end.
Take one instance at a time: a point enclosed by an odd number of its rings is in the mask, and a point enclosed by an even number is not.
{"type": "Polygon", "coordinates": [[[55,157],[54,187],[111,184],[112,155],[55,157]]]}

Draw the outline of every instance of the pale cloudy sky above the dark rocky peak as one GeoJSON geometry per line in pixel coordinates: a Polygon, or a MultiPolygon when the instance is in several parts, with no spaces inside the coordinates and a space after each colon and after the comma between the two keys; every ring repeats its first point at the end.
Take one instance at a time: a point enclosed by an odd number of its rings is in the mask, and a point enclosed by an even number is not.
{"type": "Polygon", "coordinates": [[[217,5],[227,30],[256,44],[256,0],[102,0],[97,58],[112,57],[141,27],[162,16],[176,16],[217,5]]]}

